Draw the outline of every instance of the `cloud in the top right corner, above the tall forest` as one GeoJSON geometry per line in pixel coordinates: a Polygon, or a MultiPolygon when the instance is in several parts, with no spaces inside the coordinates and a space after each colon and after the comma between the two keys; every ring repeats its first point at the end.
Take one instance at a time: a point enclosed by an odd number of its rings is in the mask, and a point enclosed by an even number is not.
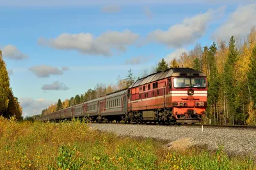
{"type": "Polygon", "coordinates": [[[230,39],[233,36],[245,36],[256,25],[256,3],[239,6],[230,14],[225,24],[218,27],[212,38],[230,39]]]}

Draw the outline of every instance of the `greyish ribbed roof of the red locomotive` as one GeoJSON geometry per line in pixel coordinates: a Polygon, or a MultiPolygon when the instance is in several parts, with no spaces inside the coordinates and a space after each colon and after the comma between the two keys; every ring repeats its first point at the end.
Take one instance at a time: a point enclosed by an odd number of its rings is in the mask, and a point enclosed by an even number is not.
{"type": "Polygon", "coordinates": [[[170,76],[206,76],[201,71],[196,71],[195,69],[191,69],[188,67],[172,67],[166,69],[165,71],[158,71],[157,73],[150,74],[143,78],[138,79],[135,81],[130,87],[138,87],[140,85],[145,85],[147,83],[152,83],[157,80],[161,80],[164,78],[168,78],[170,76]]]}

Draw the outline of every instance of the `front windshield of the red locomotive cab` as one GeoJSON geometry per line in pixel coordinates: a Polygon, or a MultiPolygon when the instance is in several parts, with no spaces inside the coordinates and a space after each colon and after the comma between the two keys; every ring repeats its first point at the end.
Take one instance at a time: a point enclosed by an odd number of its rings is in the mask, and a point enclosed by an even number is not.
{"type": "Polygon", "coordinates": [[[206,87],[205,78],[173,78],[173,85],[175,88],[184,87],[206,87]]]}

